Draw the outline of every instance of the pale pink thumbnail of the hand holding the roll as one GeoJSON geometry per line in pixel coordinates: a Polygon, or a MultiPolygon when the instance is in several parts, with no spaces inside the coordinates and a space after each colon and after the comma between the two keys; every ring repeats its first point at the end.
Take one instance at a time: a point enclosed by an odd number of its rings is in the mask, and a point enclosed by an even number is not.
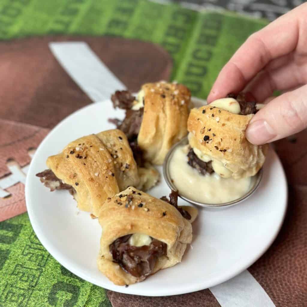
{"type": "Polygon", "coordinates": [[[265,120],[259,119],[248,125],[245,135],[251,143],[260,145],[269,142],[277,134],[265,120]]]}

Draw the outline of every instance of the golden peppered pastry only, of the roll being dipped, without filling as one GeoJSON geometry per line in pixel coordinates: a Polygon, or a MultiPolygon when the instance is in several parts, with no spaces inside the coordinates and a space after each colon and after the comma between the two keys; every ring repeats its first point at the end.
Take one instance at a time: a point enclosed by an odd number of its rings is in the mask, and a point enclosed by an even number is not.
{"type": "Polygon", "coordinates": [[[265,161],[268,145],[251,144],[245,137],[252,116],[210,105],[192,109],[188,118],[189,144],[222,162],[233,178],[253,176],[265,161]]]}

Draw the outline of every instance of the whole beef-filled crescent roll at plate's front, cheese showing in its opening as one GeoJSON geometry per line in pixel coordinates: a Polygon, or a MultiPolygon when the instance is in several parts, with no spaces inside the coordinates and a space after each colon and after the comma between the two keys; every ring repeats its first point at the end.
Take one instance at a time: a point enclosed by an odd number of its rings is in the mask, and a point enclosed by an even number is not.
{"type": "Polygon", "coordinates": [[[162,200],[129,187],[105,201],[97,264],[115,285],[141,282],[181,262],[197,209],[177,207],[177,196],[172,192],[162,200]]]}

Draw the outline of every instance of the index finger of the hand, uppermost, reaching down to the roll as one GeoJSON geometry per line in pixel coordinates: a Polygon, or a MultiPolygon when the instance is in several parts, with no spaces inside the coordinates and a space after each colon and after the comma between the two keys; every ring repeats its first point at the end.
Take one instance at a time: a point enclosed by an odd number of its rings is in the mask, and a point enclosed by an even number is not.
{"type": "Polygon", "coordinates": [[[238,93],[271,60],[292,52],[297,46],[300,25],[305,22],[306,13],[307,3],[304,3],[252,34],[221,70],[208,102],[231,92],[238,93]]]}

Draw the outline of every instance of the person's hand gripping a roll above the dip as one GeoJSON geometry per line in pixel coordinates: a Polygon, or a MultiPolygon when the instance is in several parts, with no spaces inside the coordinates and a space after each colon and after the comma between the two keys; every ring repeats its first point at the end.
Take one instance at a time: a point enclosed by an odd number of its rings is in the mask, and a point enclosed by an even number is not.
{"type": "Polygon", "coordinates": [[[307,127],[307,3],[252,34],[217,77],[208,102],[250,91],[268,103],[251,119],[247,139],[264,144],[307,127]],[[285,91],[270,97],[274,90],[285,91]]]}

